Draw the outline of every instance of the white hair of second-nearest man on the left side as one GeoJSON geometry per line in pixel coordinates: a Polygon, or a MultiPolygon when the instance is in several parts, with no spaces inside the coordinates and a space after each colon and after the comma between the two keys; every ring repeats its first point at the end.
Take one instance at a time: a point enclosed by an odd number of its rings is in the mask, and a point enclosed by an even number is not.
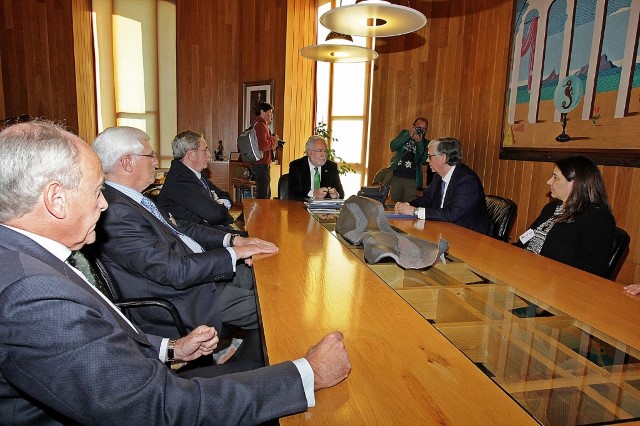
{"type": "Polygon", "coordinates": [[[144,149],[142,141],[145,140],[149,140],[149,135],[135,127],[109,127],[98,135],[92,146],[102,161],[104,172],[111,173],[125,155],[140,154],[144,149]]]}

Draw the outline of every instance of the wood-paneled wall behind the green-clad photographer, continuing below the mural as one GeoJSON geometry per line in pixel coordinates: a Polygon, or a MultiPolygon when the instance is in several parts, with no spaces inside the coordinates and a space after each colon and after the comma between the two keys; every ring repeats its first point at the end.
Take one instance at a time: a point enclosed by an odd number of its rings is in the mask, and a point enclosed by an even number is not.
{"type": "MultiPolygon", "coordinates": [[[[517,238],[549,201],[553,164],[499,160],[513,2],[505,0],[412,1],[428,19],[405,36],[378,39],[371,117],[369,176],[386,167],[389,141],[416,116],[430,125],[427,136],[453,136],[464,161],[484,182],[487,194],[513,199],[517,238]]],[[[617,281],[640,281],[640,217],[636,212],[640,171],[601,167],[618,226],[631,248],[617,281]]],[[[434,225],[435,226],[435,225],[434,225]]]]}

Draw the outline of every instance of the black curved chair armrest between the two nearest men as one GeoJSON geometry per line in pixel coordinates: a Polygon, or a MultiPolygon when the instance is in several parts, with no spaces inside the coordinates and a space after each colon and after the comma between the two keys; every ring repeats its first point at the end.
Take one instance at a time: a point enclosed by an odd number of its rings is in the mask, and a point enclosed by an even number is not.
{"type": "Polygon", "coordinates": [[[111,274],[109,273],[109,271],[107,271],[107,268],[104,266],[102,260],[100,260],[100,258],[98,258],[95,253],[93,253],[93,251],[88,250],[86,246],[82,249],[82,253],[85,255],[85,257],[93,267],[94,272],[98,276],[98,279],[102,281],[102,284],[107,289],[105,296],[107,296],[107,298],[111,302],[113,302],[114,305],[123,310],[149,306],[160,307],[166,310],[169,315],[171,315],[171,317],[173,318],[173,323],[180,336],[186,336],[188,334],[187,329],[182,322],[180,312],[178,312],[178,309],[173,305],[173,303],[161,297],[123,299],[118,285],[113,280],[113,278],[111,278],[111,274]]]}

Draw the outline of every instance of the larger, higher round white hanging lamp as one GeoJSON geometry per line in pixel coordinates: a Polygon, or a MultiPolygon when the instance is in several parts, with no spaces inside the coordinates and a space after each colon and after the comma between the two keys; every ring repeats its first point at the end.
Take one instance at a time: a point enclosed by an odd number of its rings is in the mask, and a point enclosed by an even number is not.
{"type": "Polygon", "coordinates": [[[360,37],[389,37],[417,31],[427,18],[410,7],[383,0],[363,0],[325,12],[320,23],[332,31],[360,37]]]}

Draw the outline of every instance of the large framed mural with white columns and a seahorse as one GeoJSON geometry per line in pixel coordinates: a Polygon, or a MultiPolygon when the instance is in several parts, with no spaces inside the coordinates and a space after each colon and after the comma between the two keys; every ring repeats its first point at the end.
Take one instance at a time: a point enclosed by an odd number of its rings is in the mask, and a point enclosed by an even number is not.
{"type": "Polygon", "coordinates": [[[640,166],[640,0],[516,0],[500,158],[640,166]]]}

